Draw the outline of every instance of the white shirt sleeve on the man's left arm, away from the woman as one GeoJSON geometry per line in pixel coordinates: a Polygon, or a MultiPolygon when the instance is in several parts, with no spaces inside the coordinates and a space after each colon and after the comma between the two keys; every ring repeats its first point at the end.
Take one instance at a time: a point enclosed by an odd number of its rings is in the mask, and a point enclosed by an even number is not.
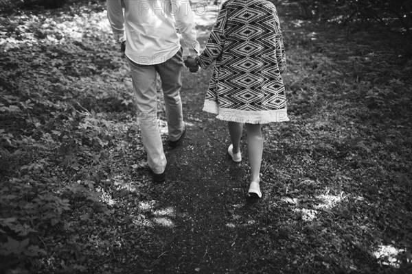
{"type": "Polygon", "coordinates": [[[126,40],[123,7],[123,0],[106,0],[108,22],[117,42],[124,42],[126,40]]]}

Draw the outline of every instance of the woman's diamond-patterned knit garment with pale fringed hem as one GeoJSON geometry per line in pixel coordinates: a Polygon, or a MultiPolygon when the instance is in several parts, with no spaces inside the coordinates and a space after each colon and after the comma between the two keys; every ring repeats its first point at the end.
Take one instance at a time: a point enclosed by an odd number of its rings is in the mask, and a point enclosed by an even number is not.
{"type": "Polygon", "coordinates": [[[203,110],[239,123],[289,121],[286,55],[275,5],[267,0],[223,3],[205,50],[196,61],[216,61],[203,110]]]}

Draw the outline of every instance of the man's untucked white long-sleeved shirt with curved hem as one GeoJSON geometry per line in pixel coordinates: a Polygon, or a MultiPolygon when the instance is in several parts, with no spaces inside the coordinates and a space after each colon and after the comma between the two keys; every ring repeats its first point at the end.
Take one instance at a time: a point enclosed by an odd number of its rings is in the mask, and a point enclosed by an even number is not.
{"type": "Polygon", "coordinates": [[[182,0],[106,0],[107,18],[118,42],[126,40],[126,56],[137,64],[160,64],[181,48],[179,28],[197,55],[194,14],[189,1],[182,0]],[[124,11],[123,11],[124,9],[124,11]]]}

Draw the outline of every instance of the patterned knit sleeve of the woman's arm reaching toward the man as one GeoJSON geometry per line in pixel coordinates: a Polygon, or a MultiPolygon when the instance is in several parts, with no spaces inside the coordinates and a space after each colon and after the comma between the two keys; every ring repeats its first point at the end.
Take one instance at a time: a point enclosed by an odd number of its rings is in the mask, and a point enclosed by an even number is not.
{"type": "Polygon", "coordinates": [[[207,69],[207,67],[222,54],[223,46],[225,45],[225,29],[227,25],[226,3],[227,2],[223,3],[219,11],[218,18],[207,39],[205,50],[196,58],[196,61],[202,69],[207,69]]]}

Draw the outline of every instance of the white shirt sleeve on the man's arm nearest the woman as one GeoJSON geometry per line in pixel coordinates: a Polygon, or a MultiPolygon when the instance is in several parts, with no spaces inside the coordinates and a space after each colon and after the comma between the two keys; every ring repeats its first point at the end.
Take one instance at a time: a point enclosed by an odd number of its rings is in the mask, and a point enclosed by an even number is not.
{"type": "Polygon", "coordinates": [[[190,55],[198,55],[200,45],[196,40],[196,25],[190,1],[170,0],[170,3],[176,26],[179,28],[185,44],[189,47],[190,55]]]}

